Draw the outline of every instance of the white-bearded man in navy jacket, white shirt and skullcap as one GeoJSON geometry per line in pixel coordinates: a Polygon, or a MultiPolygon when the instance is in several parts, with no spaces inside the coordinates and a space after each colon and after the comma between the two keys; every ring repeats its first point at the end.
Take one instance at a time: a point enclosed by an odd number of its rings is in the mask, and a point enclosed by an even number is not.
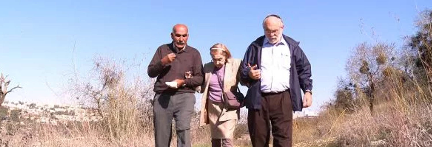
{"type": "Polygon", "coordinates": [[[299,42],[283,34],[278,15],[264,18],[263,29],[241,63],[249,135],[253,147],[268,147],[271,129],[273,147],[291,147],[292,111],[312,104],[311,64],[299,42]]]}

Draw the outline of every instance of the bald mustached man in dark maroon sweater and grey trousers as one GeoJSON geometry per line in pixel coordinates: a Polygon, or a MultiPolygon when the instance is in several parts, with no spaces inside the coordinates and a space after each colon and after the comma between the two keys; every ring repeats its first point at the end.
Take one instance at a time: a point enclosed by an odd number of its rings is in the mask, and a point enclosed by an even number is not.
{"type": "Polygon", "coordinates": [[[191,116],[194,113],[195,87],[203,83],[200,52],[187,45],[186,25],[172,28],[172,42],[159,46],[147,73],[157,77],[154,85],[153,123],[155,146],[169,147],[172,119],[175,120],[177,147],[191,147],[191,116]],[[191,73],[191,78],[185,78],[191,73]]]}

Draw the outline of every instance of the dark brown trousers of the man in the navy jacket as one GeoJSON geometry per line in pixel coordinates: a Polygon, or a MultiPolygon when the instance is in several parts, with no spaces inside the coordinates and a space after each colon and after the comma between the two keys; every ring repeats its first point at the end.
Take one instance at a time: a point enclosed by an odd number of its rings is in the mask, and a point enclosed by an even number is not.
{"type": "Polygon", "coordinates": [[[289,91],[262,94],[261,109],[248,110],[248,129],[253,147],[268,147],[270,128],[273,147],[292,146],[292,105],[289,91]],[[271,124],[271,127],[270,127],[271,124]]]}

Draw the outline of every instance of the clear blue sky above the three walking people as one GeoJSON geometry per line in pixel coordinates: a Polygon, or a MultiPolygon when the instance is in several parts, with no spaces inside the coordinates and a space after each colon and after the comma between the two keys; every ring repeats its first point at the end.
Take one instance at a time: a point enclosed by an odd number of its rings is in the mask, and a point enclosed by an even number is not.
{"type": "Polygon", "coordinates": [[[432,8],[430,0],[2,1],[0,72],[9,75],[11,85],[23,87],[6,100],[70,103],[65,89],[72,59],[80,73],[91,69],[96,55],[137,56],[146,67],[156,48],[171,42],[177,23],[189,27],[188,44],[201,52],[203,62],[210,61],[208,49],[215,43],[243,58],[247,46],[264,34],[263,18],[275,13],[283,18],[284,34],[300,41],[312,64],[311,110],[318,110],[333,97],[356,45],[379,40],[402,46],[426,8],[432,8]]]}

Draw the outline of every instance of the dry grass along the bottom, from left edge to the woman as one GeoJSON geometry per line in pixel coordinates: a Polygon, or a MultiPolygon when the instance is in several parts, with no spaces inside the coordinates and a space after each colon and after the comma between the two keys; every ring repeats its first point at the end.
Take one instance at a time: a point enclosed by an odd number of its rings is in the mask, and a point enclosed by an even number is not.
{"type": "MultiPolygon", "coordinates": [[[[197,123],[195,121],[192,123],[197,123]]],[[[58,125],[36,123],[27,120],[3,121],[0,126],[0,147],[154,147],[152,128],[133,126],[136,130],[112,138],[105,121],[65,122],[58,125]],[[23,122],[24,124],[20,124],[23,122]]],[[[210,146],[210,127],[194,127],[192,144],[210,146]]],[[[175,131],[172,146],[176,146],[175,131]]]]}

